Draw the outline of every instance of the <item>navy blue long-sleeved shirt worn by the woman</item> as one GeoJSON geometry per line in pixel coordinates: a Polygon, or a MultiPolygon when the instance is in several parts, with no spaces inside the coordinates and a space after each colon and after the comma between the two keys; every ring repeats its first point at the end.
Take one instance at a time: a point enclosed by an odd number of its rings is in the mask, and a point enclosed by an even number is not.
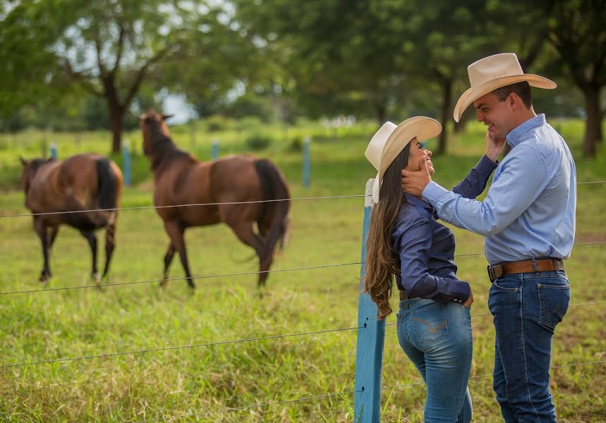
{"type": "MultiPolygon", "coordinates": [[[[478,197],[496,167],[483,156],[453,192],[465,198],[478,197]]],[[[392,234],[401,269],[396,275],[398,289],[406,290],[411,297],[465,302],[471,290],[467,282],[456,277],[452,231],[437,221],[431,204],[408,192],[404,197],[392,234]]]]}

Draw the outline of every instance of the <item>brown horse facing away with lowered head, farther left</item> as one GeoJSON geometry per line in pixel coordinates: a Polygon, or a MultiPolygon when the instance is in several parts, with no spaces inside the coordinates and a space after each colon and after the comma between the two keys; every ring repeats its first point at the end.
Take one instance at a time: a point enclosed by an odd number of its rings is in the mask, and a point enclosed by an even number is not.
{"type": "Polygon", "coordinates": [[[103,270],[103,276],[106,276],[116,243],[114,235],[118,212],[116,210],[62,212],[120,207],[122,192],[120,168],[114,161],[97,154],[78,154],[65,161],[21,159],[21,163],[25,207],[34,214],[34,228],[42,243],[44,268],[40,274],[40,282],[46,283],[51,277],[49,255],[59,226],[64,223],[78,229],[88,241],[92,250],[92,277],[96,283],[99,283],[95,230],[106,229],[103,270]]]}

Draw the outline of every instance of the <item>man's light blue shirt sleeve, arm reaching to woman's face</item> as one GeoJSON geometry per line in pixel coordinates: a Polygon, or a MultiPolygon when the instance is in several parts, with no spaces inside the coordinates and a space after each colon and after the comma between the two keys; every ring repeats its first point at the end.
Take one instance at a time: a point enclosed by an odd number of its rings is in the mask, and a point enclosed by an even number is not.
{"type": "Polygon", "coordinates": [[[545,164],[531,147],[519,145],[501,166],[483,202],[463,198],[435,182],[425,187],[423,199],[442,221],[480,235],[495,235],[525,212],[548,182],[545,164]]]}

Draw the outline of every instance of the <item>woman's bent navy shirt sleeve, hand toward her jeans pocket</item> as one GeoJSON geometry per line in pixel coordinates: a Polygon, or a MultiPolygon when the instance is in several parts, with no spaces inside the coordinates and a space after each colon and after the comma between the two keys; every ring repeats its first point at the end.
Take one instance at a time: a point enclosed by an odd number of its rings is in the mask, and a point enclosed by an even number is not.
{"type": "Polygon", "coordinates": [[[465,302],[471,289],[467,282],[458,279],[432,276],[428,273],[432,229],[430,217],[415,216],[399,223],[395,240],[399,245],[402,286],[413,297],[435,301],[465,302]]]}

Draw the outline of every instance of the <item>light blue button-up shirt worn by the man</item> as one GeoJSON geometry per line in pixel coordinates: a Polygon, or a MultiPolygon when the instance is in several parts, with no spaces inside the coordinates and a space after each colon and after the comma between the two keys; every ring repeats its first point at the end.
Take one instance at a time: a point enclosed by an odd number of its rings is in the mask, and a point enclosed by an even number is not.
{"type": "Polygon", "coordinates": [[[576,168],[562,137],[532,118],[507,135],[511,152],[497,166],[483,202],[435,182],[423,198],[442,221],[486,237],[490,264],[534,257],[570,257],[574,243],[576,168]]]}

